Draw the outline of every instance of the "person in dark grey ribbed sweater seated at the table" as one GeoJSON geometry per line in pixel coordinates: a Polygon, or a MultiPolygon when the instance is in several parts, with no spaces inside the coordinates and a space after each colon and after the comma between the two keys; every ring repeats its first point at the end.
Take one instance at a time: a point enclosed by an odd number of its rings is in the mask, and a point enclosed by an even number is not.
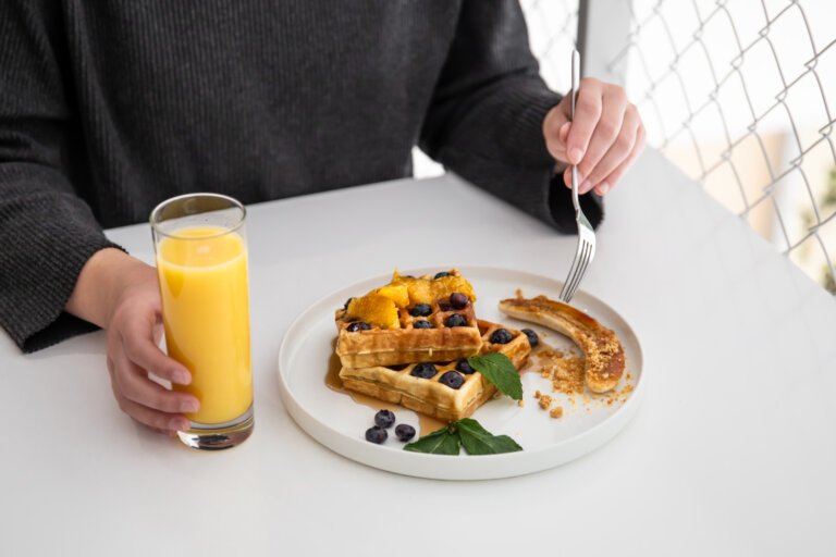
{"type": "Polygon", "coordinates": [[[155,269],[102,227],[190,191],[254,203],[409,176],[418,144],[574,233],[566,165],[598,224],[644,140],[594,78],[569,122],[517,0],[5,0],[0,75],[0,325],[24,351],[106,329],[120,407],[167,433],[199,400],[149,379],[190,373],[158,347],[155,269]]]}

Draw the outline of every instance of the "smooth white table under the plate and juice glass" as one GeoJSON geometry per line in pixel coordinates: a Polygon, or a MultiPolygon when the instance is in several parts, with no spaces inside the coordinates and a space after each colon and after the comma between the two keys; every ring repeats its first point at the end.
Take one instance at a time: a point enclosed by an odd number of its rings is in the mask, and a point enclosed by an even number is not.
{"type": "MultiPolygon", "coordinates": [[[[134,424],[102,333],[30,356],[0,335],[0,555],[834,555],[836,302],[659,153],[608,197],[583,283],[636,329],[647,396],[608,445],[517,479],[419,480],[331,453],[282,407],[278,347],[316,299],[393,265],[563,278],[574,237],[452,176],[254,206],[248,233],[256,431],[241,447],[134,424]]],[[[109,235],[150,258],[147,225],[109,235]]]]}

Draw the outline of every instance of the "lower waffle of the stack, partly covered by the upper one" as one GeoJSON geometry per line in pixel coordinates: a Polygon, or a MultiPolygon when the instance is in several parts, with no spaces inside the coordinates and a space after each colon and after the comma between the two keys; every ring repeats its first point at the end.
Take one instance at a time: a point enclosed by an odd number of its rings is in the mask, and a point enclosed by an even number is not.
{"type": "MultiPolygon", "coordinates": [[[[531,351],[525,334],[490,321],[479,320],[477,325],[482,341],[479,354],[501,352],[507,356],[517,369],[525,366],[531,351]],[[490,342],[491,334],[497,329],[506,329],[511,333],[509,343],[490,342]]],[[[465,381],[458,389],[440,383],[444,373],[456,370],[456,363],[457,361],[435,363],[437,373],[430,379],[410,374],[418,363],[395,367],[343,367],[340,377],[343,386],[349,391],[397,404],[442,421],[455,421],[471,416],[496,392],[496,387],[479,372],[462,374],[465,381]]]]}

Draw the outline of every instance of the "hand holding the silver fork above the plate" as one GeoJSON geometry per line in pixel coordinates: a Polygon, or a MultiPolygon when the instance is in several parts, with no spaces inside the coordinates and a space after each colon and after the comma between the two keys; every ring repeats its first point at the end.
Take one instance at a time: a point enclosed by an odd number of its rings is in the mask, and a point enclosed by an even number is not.
{"type": "MultiPolygon", "coordinates": [[[[558,162],[578,166],[578,193],[603,196],[644,147],[644,126],[622,87],[585,77],[578,91],[574,123],[569,95],[545,115],[545,146],[558,162]]],[[[564,182],[571,186],[569,169],[564,182]]]]}

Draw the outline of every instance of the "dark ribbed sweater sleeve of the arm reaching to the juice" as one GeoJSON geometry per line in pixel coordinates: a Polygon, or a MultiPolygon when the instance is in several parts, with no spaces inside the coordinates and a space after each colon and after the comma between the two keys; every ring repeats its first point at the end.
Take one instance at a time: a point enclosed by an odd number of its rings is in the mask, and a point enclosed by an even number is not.
{"type": "Polygon", "coordinates": [[[24,351],[94,330],[63,311],[87,259],[116,247],[67,178],[58,2],[0,2],[0,325],[24,351]]]}

